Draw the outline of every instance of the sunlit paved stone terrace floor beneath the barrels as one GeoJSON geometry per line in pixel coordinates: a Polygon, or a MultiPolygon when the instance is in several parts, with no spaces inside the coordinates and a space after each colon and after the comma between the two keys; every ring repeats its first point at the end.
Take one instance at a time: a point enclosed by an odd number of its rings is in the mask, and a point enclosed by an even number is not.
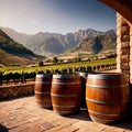
{"type": "Polygon", "coordinates": [[[34,96],[0,102],[0,132],[131,132],[132,120],[111,125],[92,122],[86,109],[62,117],[38,108],[34,96]]]}

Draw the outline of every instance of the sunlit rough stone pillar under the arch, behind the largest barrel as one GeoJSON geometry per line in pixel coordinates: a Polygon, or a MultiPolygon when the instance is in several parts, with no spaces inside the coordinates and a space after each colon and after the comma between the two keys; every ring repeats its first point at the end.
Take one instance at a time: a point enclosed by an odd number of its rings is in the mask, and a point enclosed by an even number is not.
{"type": "Polygon", "coordinates": [[[125,74],[130,81],[130,26],[117,13],[117,70],[125,74]]]}

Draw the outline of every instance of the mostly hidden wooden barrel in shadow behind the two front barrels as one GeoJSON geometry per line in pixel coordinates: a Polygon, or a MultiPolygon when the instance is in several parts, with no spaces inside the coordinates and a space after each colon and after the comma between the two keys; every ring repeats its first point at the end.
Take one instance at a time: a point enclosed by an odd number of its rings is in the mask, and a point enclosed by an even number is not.
{"type": "Polygon", "coordinates": [[[86,80],[88,73],[87,72],[79,72],[80,80],[81,80],[81,105],[80,108],[87,108],[86,106],[86,80]]]}

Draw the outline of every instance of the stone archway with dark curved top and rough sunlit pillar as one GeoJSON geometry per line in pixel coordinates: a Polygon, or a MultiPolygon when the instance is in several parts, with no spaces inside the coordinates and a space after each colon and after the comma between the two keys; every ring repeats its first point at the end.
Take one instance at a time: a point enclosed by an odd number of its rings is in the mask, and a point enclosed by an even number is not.
{"type": "Polygon", "coordinates": [[[99,0],[117,13],[117,69],[132,84],[132,1],[99,0]]]}

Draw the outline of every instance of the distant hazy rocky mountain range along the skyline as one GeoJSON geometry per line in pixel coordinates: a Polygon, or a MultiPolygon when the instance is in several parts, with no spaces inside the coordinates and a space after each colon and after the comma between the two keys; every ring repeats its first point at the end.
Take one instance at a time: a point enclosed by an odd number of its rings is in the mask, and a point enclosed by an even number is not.
{"type": "Polygon", "coordinates": [[[15,42],[43,56],[62,54],[65,51],[84,51],[90,52],[90,54],[99,54],[100,52],[116,50],[117,47],[116,30],[101,32],[87,29],[65,35],[48,32],[31,35],[19,33],[9,28],[0,29],[15,42]]]}

